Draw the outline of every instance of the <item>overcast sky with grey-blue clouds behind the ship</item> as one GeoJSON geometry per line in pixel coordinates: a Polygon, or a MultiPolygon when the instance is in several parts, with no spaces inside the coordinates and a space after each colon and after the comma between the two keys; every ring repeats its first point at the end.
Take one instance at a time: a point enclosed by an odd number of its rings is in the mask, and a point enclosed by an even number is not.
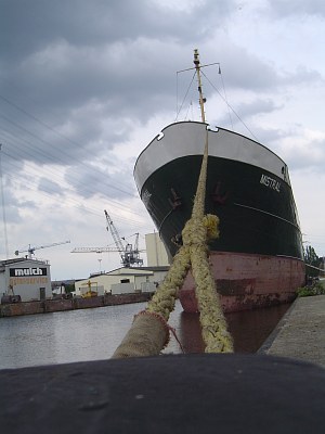
{"type": "Polygon", "coordinates": [[[114,246],[104,209],[144,247],[134,162],[199,119],[192,73],[177,74],[195,48],[222,71],[205,69],[207,120],[286,161],[303,240],[325,255],[324,1],[0,0],[0,259],[70,240],[35,252],[52,279],[114,269],[116,253],[70,253],[114,246]]]}

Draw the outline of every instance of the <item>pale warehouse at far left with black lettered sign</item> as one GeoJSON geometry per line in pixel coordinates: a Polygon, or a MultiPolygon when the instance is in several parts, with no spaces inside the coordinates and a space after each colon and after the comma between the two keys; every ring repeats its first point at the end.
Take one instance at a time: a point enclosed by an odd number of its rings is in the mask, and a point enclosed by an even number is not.
{"type": "Polygon", "coordinates": [[[1,260],[0,291],[1,296],[20,296],[22,302],[50,298],[50,265],[43,260],[28,258],[1,260]]]}

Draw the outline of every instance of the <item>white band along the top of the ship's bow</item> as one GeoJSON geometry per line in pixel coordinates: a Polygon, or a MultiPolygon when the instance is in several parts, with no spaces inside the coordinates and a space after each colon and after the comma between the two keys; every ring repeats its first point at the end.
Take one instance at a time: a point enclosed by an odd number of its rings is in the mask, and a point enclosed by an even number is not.
{"type": "MultiPolygon", "coordinates": [[[[166,164],[186,155],[203,155],[207,128],[207,124],[194,122],[171,124],[164,128],[135,163],[134,178],[139,192],[147,178],[166,164]]],[[[210,156],[260,167],[289,184],[284,161],[262,144],[221,128],[217,131],[208,129],[208,140],[210,156]]]]}

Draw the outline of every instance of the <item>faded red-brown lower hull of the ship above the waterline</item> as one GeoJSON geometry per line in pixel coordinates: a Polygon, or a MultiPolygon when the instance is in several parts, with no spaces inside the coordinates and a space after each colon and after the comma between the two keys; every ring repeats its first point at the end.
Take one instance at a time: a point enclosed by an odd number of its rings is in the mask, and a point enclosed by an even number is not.
{"type": "MultiPolygon", "coordinates": [[[[224,312],[289,303],[304,284],[304,263],[296,258],[211,252],[209,261],[224,312]]],[[[199,311],[191,272],[179,298],[184,311],[199,311]]]]}

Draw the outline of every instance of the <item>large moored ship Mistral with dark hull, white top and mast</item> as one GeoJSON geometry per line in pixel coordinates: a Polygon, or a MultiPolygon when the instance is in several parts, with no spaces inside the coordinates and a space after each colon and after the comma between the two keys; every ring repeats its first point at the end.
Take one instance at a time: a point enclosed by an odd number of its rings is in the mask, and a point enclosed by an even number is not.
{"type": "MultiPolygon", "coordinates": [[[[209,264],[224,312],[290,303],[306,282],[302,235],[288,166],[269,148],[205,119],[200,63],[194,51],[202,120],[165,127],[141,152],[134,180],[170,257],[191,218],[208,140],[205,213],[219,217],[209,264]]],[[[191,269],[179,290],[198,311],[191,269]]]]}

